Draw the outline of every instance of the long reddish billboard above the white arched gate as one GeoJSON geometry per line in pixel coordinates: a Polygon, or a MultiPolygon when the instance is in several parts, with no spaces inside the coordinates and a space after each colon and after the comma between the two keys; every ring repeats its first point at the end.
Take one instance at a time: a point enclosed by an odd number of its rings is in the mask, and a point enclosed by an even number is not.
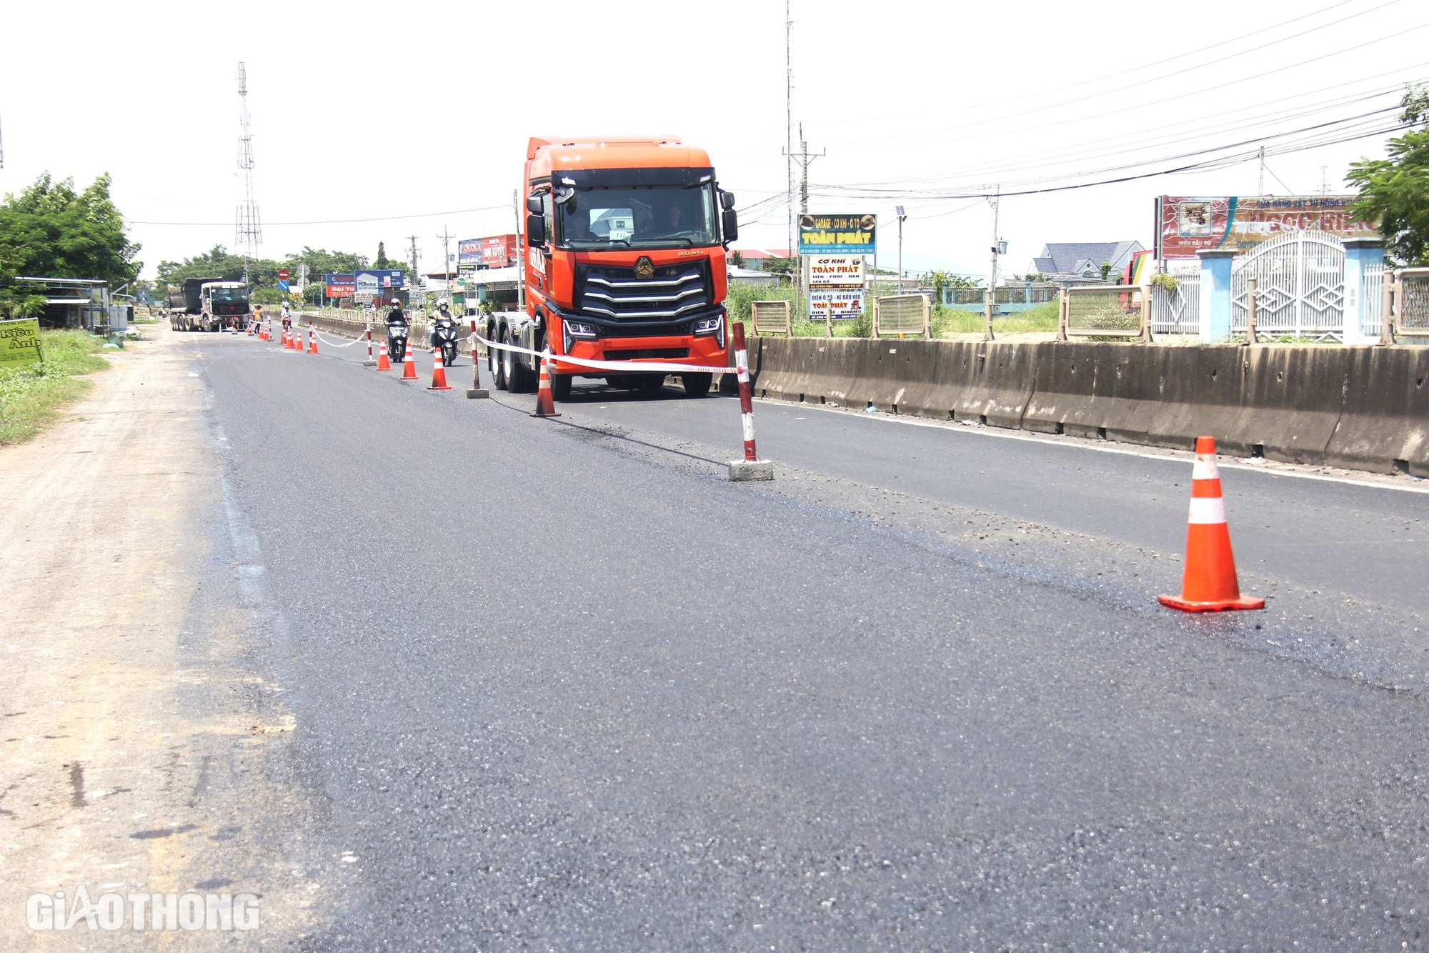
{"type": "Polygon", "coordinates": [[[1378,239],[1349,213],[1358,196],[1160,196],[1156,257],[1193,259],[1202,249],[1249,251],[1285,231],[1318,229],[1340,239],[1378,239]]]}

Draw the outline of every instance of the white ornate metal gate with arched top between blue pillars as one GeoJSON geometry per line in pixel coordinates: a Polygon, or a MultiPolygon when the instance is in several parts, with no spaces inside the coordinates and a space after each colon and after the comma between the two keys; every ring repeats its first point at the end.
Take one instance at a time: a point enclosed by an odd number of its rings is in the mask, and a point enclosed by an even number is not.
{"type": "Polygon", "coordinates": [[[1230,330],[1246,329],[1246,279],[1256,279],[1260,334],[1345,336],[1345,246],[1326,231],[1290,231],[1262,243],[1230,274],[1230,330]]]}

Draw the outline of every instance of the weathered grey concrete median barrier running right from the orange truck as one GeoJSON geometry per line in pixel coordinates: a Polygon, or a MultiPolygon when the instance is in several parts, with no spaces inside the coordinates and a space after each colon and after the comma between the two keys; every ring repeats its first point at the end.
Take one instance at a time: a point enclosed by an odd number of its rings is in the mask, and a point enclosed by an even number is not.
{"type": "Polygon", "coordinates": [[[760,339],[756,393],[1429,476],[1429,349],[760,339]]]}

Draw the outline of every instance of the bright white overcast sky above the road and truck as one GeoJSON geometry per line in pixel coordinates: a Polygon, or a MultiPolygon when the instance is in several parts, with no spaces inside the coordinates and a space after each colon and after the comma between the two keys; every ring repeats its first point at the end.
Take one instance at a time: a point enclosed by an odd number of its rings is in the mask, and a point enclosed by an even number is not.
{"type": "Polygon", "coordinates": [[[263,257],[303,246],[440,270],[442,236],[510,231],[526,140],[677,134],[737,196],[736,247],[787,247],[787,113],[809,209],[879,216],[879,264],[985,276],[1047,241],[1152,246],[1153,199],[1345,191],[1429,80],[1422,0],[1077,7],[437,3],[16,4],[0,59],[0,193],[113,176],[144,276],[234,246],[247,69],[263,257]],[[1102,10],[1102,13],[1097,13],[1102,10]],[[90,56],[56,56],[56,24],[90,56]],[[786,110],[786,39],[793,97],[786,110]],[[1368,134],[1368,136],[1366,136],[1368,134]],[[1352,139],[1356,137],[1356,139],[1352,139]],[[1349,141],[1335,141],[1349,140],[1349,141]],[[799,133],[795,133],[797,151],[799,133]]]}

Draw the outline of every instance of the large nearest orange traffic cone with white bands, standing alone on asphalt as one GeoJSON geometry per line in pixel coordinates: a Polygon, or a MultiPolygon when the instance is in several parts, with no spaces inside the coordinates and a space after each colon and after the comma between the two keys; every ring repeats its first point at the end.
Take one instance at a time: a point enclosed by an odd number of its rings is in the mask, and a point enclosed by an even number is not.
{"type": "Polygon", "coordinates": [[[1162,596],[1160,603],[1182,612],[1265,609],[1263,599],[1242,596],[1236,582],[1236,557],[1230,552],[1226,504],[1220,496],[1215,437],[1196,437],[1196,463],[1190,471],[1190,517],[1186,526],[1186,570],[1180,577],[1180,596],[1162,596]]]}

